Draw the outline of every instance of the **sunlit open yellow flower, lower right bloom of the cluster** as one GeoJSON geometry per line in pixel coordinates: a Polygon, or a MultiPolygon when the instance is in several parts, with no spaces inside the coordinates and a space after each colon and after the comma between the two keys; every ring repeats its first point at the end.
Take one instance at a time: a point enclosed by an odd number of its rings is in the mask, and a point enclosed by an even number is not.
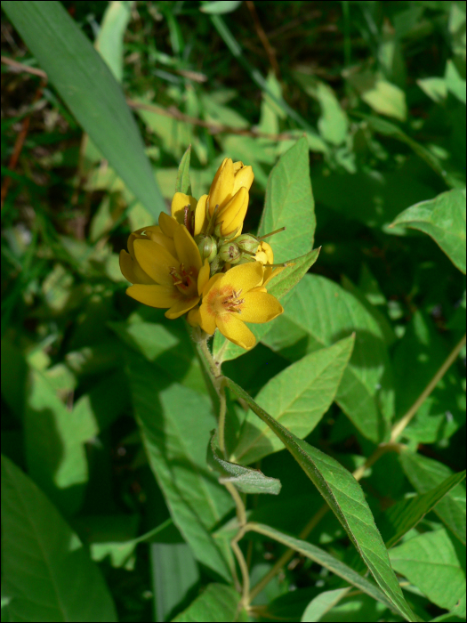
{"type": "Polygon", "coordinates": [[[230,342],[246,350],[253,348],[256,339],[245,322],[269,322],[284,312],[278,300],[262,287],[262,263],[252,262],[234,266],[229,271],[213,275],[205,283],[198,281],[203,302],[189,312],[189,323],[199,325],[213,335],[216,328],[230,342]]]}

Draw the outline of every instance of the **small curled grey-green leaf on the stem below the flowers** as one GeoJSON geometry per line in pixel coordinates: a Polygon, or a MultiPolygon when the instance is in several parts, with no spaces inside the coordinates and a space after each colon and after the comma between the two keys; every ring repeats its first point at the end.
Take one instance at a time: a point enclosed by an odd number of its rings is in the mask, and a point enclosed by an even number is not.
{"type": "Polygon", "coordinates": [[[213,431],[211,442],[207,447],[207,465],[213,470],[222,474],[219,481],[231,482],[242,493],[272,493],[277,496],[281,484],[277,478],[269,478],[265,476],[261,470],[236,465],[225,461],[217,454],[215,448],[216,432],[213,431]]]}

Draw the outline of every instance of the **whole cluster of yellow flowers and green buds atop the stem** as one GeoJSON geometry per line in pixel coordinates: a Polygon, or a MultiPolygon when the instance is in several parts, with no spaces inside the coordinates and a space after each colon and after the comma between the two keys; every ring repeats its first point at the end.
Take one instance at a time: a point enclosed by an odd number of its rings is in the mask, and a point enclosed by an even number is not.
{"type": "Polygon", "coordinates": [[[209,194],[196,200],[181,192],[172,216],[134,231],[120,269],[133,286],[126,294],[165,316],[188,313],[192,327],[213,335],[216,328],[234,344],[250,349],[255,338],[245,322],[262,323],[284,310],[266,286],[282,267],[273,268],[270,245],[241,235],[254,180],[251,166],[225,158],[209,194]]]}

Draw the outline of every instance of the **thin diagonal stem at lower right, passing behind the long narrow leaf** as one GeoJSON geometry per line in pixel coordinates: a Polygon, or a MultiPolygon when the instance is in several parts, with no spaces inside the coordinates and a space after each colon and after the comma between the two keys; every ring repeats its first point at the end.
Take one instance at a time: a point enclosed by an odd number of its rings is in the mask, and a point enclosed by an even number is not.
{"type": "MultiPolygon", "coordinates": [[[[400,449],[404,447],[402,444],[397,442],[399,440],[400,435],[404,432],[406,426],[409,424],[410,420],[415,416],[415,413],[418,411],[418,409],[420,409],[420,407],[423,405],[423,402],[426,401],[426,399],[431,394],[431,392],[434,390],[436,385],[439,384],[439,381],[441,380],[441,378],[447,373],[447,370],[455,362],[464,344],[465,344],[465,335],[460,340],[460,342],[455,345],[454,349],[452,350],[452,352],[450,352],[449,356],[447,357],[447,360],[439,368],[435,376],[433,376],[430,383],[425,387],[425,389],[420,394],[420,396],[417,398],[417,400],[414,402],[412,407],[408,409],[405,416],[401,417],[399,422],[392,427],[390,441],[381,443],[374,450],[374,453],[366,459],[364,465],[361,465],[360,467],[358,467],[358,469],[355,470],[355,472],[352,473],[355,480],[357,481],[361,480],[364,474],[366,473],[366,470],[372,465],[374,465],[376,461],[382,457],[383,454],[391,450],[399,452],[400,449]]],[[[315,528],[315,526],[318,525],[318,523],[323,519],[323,517],[325,516],[328,510],[329,510],[329,506],[327,506],[326,504],[321,506],[318,512],[311,517],[310,522],[308,522],[307,525],[303,528],[302,532],[299,535],[299,538],[301,539],[307,538],[310,535],[311,530],[313,530],[313,528],[315,528]]],[[[246,529],[248,529],[248,524],[246,524],[246,529]]],[[[287,564],[287,562],[291,560],[294,554],[295,554],[294,549],[287,549],[286,552],[282,554],[282,556],[278,559],[278,561],[274,564],[274,566],[269,570],[269,572],[264,576],[264,578],[262,578],[258,582],[258,584],[256,584],[256,586],[252,588],[250,592],[250,601],[253,600],[254,597],[256,597],[256,595],[262,592],[262,589],[270,583],[271,579],[275,578],[278,572],[287,564]]]]}

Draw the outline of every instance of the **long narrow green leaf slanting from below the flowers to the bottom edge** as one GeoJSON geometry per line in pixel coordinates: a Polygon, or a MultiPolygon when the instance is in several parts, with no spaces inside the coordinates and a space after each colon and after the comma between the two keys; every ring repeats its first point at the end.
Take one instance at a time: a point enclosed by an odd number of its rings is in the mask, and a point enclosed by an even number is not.
{"type": "Polygon", "coordinates": [[[366,504],[365,496],[358,482],[340,463],[313,448],[264,411],[238,384],[227,379],[227,385],[239,398],[246,401],[254,413],[270,426],[270,429],[284,443],[302,470],[313,482],[319,493],[326,499],[331,510],[342,523],[344,530],[358,550],[374,579],[384,594],[405,619],[416,620],[399,587],[399,582],[391,569],[388,552],[374,518],[366,504]]]}

